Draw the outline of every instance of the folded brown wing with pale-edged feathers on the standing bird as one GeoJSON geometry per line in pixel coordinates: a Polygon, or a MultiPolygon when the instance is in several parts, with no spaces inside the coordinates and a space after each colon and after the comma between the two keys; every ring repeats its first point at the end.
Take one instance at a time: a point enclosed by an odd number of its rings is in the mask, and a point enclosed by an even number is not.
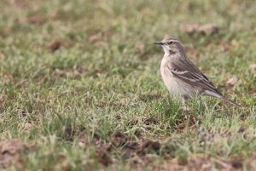
{"type": "Polygon", "coordinates": [[[209,90],[212,93],[222,95],[214,84],[188,59],[169,62],[167,68],[174,77],[195,88],[201,89],[202,92],[209,90]]]}

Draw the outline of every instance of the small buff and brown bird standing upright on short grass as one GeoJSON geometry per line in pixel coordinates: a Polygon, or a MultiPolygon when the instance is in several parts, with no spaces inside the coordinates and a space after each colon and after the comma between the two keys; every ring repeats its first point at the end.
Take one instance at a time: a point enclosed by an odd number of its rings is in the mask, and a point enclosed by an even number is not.
{"type": "Polygon", "coordinates": [[[160,74],[172,96],[179,97],[183,103],[186,103],[197,94],[207,95],[241,107],[221,94],[209,78],[189,60],[183,43],[177,38],[166,37],[154,44],[160,45],[164,49],[165,54],[160,63],[160,74]]]}

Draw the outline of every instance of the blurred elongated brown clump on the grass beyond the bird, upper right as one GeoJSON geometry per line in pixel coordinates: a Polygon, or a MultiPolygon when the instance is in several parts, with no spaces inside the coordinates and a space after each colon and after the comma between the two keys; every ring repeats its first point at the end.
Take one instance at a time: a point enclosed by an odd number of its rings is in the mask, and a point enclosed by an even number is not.
{"type": "Polygon", "coordinates": [[[183,26],[182,30],[188,34],[200,33],[202,35],[205,35],[205,34],[218,33],[219,27],[212,24],[207,24],[207,25],[191,24],[191,25],[183,26]]]}

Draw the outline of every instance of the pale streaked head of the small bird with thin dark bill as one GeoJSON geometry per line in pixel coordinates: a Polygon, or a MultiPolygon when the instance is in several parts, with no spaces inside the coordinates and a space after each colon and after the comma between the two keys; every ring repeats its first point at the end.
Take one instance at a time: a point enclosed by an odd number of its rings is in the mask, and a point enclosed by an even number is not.
{"type": "Polygon", "coordinates": [[[164,48],[165,54],[177,54],[184,53],[183,44],[177,40],[177,38],[166,37],[160,42],[154,44],[159,44],[164,48]]]}

